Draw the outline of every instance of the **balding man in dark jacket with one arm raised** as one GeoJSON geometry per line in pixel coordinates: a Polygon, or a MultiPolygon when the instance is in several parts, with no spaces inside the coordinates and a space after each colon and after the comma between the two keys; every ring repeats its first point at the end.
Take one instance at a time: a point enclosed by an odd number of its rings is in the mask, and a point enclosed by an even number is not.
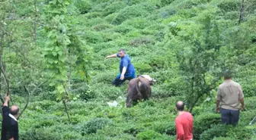
{"type": "Polygon", "coordinates": [[[19,108],[16,105],[8,107],[9,96],[5,97],[5,103],[2,107],[2,135],[1,140],[18,140],[18,112],[19,108]]]}

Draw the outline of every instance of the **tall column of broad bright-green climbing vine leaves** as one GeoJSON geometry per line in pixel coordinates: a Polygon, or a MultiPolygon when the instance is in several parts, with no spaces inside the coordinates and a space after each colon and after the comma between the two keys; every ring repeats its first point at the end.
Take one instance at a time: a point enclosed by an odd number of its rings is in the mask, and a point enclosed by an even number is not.
{"type": "Polygon", "coordinates": [[[48,69],[54,74],[50,85],[55,86],[58,100],[64,98],[66,91],[62,84],[68,81],[68,73],[71,80],[71,68],[75,68],[88,81],[90,79],[91,48],[73,30],[74,22],[68,14],[68,5],[70,0],[53,0],[44,8],[43,14],[46,23],[44,31],[48,38],[43,46],[43,54],[48,69]]]}

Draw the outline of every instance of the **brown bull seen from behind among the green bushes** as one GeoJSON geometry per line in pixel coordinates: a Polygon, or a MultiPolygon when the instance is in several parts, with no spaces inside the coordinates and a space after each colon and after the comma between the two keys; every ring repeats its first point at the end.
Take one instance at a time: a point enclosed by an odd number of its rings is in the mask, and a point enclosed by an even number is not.
{"type": "Polygon", "coordinates": [[[139,76],[131,79],[128,84],[128,96],[126,100],[126,107],[130,107],[132,101],[148,100],[151,96],[151,87],[149,79],[139,76]]]}

